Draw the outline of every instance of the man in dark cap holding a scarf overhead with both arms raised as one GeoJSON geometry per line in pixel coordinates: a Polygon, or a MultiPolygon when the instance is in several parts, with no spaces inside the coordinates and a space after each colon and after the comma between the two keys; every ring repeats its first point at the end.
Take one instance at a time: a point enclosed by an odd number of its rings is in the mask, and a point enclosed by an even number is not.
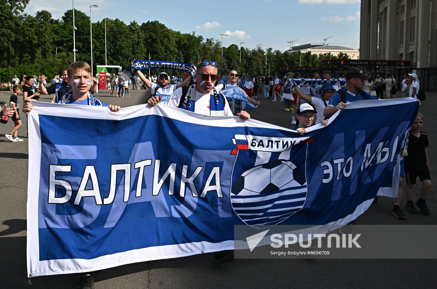
{"type": "MultiPolygon", "coordinates": [[[[134,59],[135,60],[135,59],[134,59]]],[[[134,64],[134,61],[132,60],[131,64],[134,64]]],[[[172,93],[178,89],[179,87],[188,86],[191,81],[191,76],[188,76],[187,79],[184,80],[184,82],[179,84],[169,84],[168,83],[168,75],[166,72],[161,72],[158,76],[158,84],[153,83],[149,78],[146,78],[144,74],[137,70],[136,72],[138,74],[138,77],[142,80],[144,85],[146,85],[147,88],[150,89],[150,92],[152,93],[152,96],[160,96],[161,101],[164,102],[169,99],[169,97],[172,95],[172,93]]]]}

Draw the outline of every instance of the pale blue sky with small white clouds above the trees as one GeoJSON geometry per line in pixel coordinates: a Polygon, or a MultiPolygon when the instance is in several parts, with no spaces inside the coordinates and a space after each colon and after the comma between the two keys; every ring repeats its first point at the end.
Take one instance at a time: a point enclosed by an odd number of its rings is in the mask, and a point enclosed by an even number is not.
{"type": "MultiPolygon", "coordinates": [[[[30,0],[25,13],[35,15],[38,10],[48,10],[59,19],[72,7],[72,0],[30,0]],[[59,5],[62,3],[62,5],[59,5]]],[[[87,15],[90,5],[92,19],[118,18],[129,24],[160,21],[168,28],[221,39],[223,45],[239,45],[255,48],[273,48],[284,51],[290,48],[287,41],[298,39],[295,45],[323,42],[351,48],[359,47],[360,0],[75,0],[74,6],[87,15]],[[218,3],[214,4],[213,3],[218,3]],[[246,4],[243,4],[246,3],[246,4]],[[208,5],[207,5],[208,4],[208,5]]],[[[156,31],[159,33],[159,31],[156,31]]]]}

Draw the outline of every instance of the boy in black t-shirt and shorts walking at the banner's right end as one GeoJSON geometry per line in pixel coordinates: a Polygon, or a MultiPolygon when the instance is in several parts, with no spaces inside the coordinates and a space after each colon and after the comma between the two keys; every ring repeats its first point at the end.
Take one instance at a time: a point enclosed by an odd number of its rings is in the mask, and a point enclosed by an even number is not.
{"type": "Polygon", "coordinates": [[[429,215],[430,210],[426,203],[427,196],[431,189],[430,163],[427,150],[429,142],[427,134],[421,131],[423,119],[423,114],[418,113],[407,135],[408,155],[404,157],[406,177],[405,196],[407,199],[405,209],[409,213],[417,213],[413,204],[413,186],[416,184],[417,176],[419,176],[423,186],[416,206],[424,215],[429,215]]]}

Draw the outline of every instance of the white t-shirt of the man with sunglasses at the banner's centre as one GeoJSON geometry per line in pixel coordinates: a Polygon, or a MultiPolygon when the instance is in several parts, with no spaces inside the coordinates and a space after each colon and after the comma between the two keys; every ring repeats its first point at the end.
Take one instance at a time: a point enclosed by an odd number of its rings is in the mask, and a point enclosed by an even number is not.
{"type": "MultiPolygon", "coordinates": [[[[172,107],[178,107],[180,103],[180,97],[182,96],[182,87],[176,89],[170,98],[165,102],[166,105],[170,105],[172,107]]],[[[221,96],[218,96],[221,97],[221,96]]],[[[196,104],[194,106],[194,112],[197,114],[210,115],[209,110],[209,101],[211,99],[211,93],[200,93],[196,91],[196,94],[191,95],[191,100],[193,100],[196,104]]],[[[232,111],[229,107],[227,101],[225,101],[225,116],[233,117],[232,111]]]]}

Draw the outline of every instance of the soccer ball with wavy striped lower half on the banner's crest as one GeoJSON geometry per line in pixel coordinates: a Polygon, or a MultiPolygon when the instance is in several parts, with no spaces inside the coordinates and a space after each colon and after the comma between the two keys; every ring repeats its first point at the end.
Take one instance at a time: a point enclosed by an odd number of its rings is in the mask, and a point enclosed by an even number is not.
{"type": "Polygon", "coordinates": [[[239,175],[231,187],[231,205],[244,223],[263,229],[301,210],[306,193],[304,173],[290,161],[277,160],[239,175]]]}

